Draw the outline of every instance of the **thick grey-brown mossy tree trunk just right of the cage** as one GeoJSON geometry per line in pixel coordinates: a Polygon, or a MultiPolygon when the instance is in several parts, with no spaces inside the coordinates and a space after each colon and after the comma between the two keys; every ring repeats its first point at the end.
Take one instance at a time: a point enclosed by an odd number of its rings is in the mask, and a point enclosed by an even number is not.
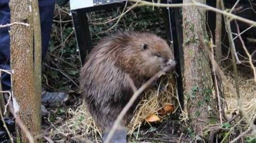
{"type": "MultiPolygon", "coordinates": [[[[195,0],[205,3],[205,0],[195,0]]],[[[183,3],[193,3],[183,0],[183,3]]],[[[185,92],[191,127],[201,133],[207,123],[217,121],[216,103],[212,95],[212,76],[209,58],[201,37],[207,39],[205,11],[195,6],[183,7],[183,51],[185,59],[185,92]],[[213,120],[214,119],[214,120],[213,120]]]]}

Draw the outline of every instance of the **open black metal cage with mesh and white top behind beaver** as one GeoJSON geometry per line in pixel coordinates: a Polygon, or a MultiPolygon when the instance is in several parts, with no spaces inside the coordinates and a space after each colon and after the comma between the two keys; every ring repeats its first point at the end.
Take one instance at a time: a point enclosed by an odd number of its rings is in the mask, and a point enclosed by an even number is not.
{"type": "MultiPolygon", "coordinates": [[[[152,2],[152,1],[150,1],[152,2]]],[[[155,1],[156,2],[156,1],[155,1]]],[[[175,1],[181,3],[182,1],[175,1]]],[[[163,1],[162,1],[163,3],[163,1]]],[[[166,0],[164,3],[174,3],[166,0]]],[[[124,0],[70,0],[71,15],[82,63],[85,56],[97,44],[101,37],[116,31],[149,31],[162,37],[173,47],[177,76],[178,97],[183,108],[183,90],[181,76],[182,27],[181,10],[166,7],[136,7],[125,13],[117,22],[116,18],[125,6],[132,6],[124,0]],[[105,24],[99,24],[106,22],[105,24]],[[110,29],[111,28],[111,29],[110,29]]]]}

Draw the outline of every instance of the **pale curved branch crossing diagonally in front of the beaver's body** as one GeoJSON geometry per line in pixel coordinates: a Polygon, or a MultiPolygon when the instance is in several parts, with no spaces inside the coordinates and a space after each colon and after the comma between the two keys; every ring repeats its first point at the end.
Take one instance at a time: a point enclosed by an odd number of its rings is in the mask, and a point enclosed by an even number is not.
{"type": "Polygon", "coordinates": [[[143,84],[134,94],[132,95],[131,99],[129,102],[125,105],[121,113],[118,115],[117,119],[114,122],[113,127],[111,128],[108,137],[106,138],[105,142],[108,143],[110,142],[110,139],[112,138],[113,134],[115,133],[116,129],[118,128],[119,122],[123,119],[124,115],[126,112],[129,110],[129,108],[132,106],[134,101],[137,99],[137,97],[149,86],[151,83],[155,81],[160,75],[165,73],[166,71],[170,70],[170,66],[165,67],[163,70],[159,71],[156,73],[152,78],[150,78],[145,84],[143,84]]]}

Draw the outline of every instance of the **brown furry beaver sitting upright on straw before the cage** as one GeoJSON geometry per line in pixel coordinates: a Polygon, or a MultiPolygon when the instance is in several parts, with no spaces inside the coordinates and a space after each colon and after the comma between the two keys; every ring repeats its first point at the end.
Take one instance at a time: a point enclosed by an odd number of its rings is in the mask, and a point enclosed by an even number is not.
{"type": "MultiPolygon", "coordinates": [[[[103,131],[103,141],[133,95],[129,79],[139,88],[165,66],[175,66],[172,49],[149,32],[118,32],[102,38],[86,56],[79,82],[89,113],[103,131]]],[[[126,142],[126,124],[139,99],[126,113],[111,142],[126,142]]]]}

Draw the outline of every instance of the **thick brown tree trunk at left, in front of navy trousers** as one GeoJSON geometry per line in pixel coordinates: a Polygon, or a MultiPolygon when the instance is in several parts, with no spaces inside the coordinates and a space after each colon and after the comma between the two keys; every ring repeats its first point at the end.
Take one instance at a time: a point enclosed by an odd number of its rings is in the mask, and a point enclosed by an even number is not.
{"type": "MultiPolygon", "coordinates": [[[[11,22],[30,24],[29,27],[20,24],[11,27],[11,81],[14,112],[29,132],[36,136],[40,133],[41,125],[41,104],[38,104],[35,92],[33,62],[33,15],[36,11],[30,0],[11,0],[9,5],[11,22]]],[[[23,130],[18,129],[17,136],[21,142],[29,142],[23,130]]]]}

